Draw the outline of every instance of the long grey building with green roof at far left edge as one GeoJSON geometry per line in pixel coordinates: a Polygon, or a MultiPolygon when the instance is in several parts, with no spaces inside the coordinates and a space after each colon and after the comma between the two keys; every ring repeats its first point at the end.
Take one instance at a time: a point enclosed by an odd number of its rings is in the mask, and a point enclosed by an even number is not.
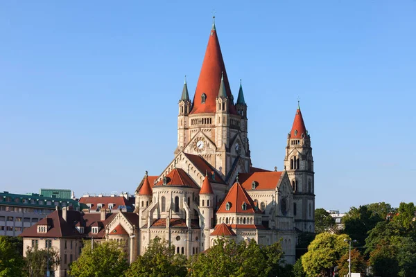
{"type": "Polygon", "coordinates": [[[0,193],[0,235],[19,235],[24,229],[55,211],[56,206],[79,208],[78,202],[72,199],[44,197],[37,193],[0,193]]]}

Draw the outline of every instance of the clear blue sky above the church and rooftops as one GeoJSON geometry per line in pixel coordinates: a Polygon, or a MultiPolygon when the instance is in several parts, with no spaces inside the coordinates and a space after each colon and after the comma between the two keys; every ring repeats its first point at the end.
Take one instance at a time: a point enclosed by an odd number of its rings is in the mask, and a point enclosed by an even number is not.
{"type": "Polygon", "coordinates": [[[415,201],[416,1],[1,1],[0,190],[133,193],[173,159],[211,11],[253,166],[283,169],[297,97],[316,208],[415,201]]]}

